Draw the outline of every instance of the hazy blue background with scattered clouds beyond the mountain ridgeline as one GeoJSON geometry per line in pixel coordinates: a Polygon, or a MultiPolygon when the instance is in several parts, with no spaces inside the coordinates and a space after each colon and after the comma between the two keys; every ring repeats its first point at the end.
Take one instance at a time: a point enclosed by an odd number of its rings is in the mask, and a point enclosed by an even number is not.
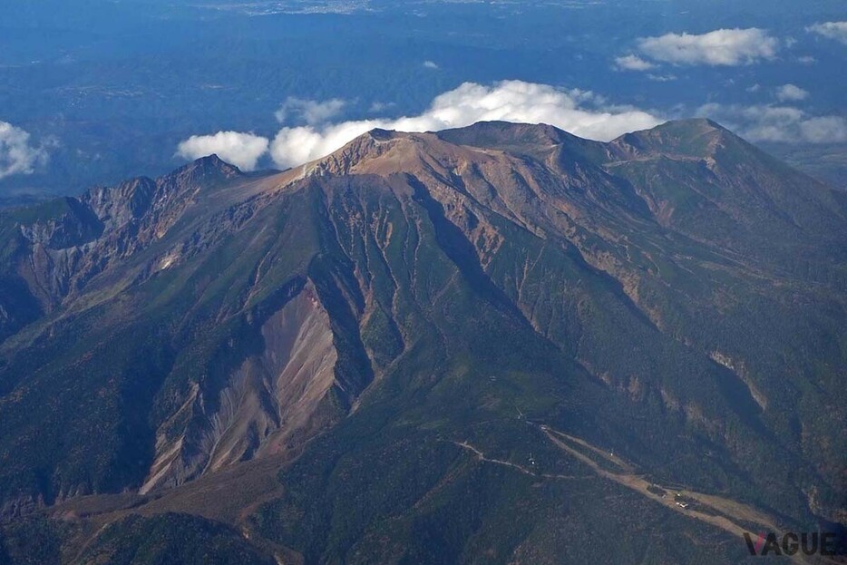
{"type": "Polygon", "coordinates": [[[213,152],[245,170],[285,168],[371,126],[485,119],[608,140],[704,116],[842,184],[845,87],[829,77],[847,57],[847,15],[835,1],[2,10],[2,199],[78,193],[213,152]]]}

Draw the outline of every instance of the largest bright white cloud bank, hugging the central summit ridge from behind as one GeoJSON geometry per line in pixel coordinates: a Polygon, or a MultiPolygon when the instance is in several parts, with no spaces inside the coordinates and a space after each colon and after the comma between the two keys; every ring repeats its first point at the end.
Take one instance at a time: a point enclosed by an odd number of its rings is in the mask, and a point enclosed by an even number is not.
{"type": "Polygon", "coordinates": [[[464,83],[437,96],[426,111],[416,116],[283,128],[270,151],[278,166],[293,167],[336,151],[374,128],[428,132],[494,120],[549,123],[575,135],[603,141],[662,122],[636,108],[609,106],[601,97],[585,91],[521,81],[492,86],[464,83]]]}

